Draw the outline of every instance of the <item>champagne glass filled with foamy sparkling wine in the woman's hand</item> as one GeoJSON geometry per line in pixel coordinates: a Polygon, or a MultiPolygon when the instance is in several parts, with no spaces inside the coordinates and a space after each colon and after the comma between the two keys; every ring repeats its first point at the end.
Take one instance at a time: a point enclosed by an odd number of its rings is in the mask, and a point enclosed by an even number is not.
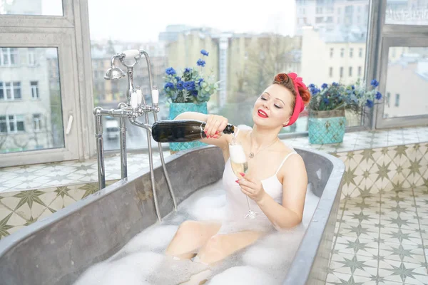
{"type": "MultiPolygon", "coordinates": [[[[240,173],[247,174],[248,172],[248,162],[247,155],[245,155],[243,146],[236,141],[229,143],[229,153],[230,153],[230,165],[232,165],[232,170],[235,173],[236,177],[240,177],[240,173]]],[[[244,180],[244,179],[240,179],[244,180]]],[[[250,207],[250,200],[247,198],[248,205],[248,214],[245,215],[245,219],[255,219],[257,213],[254,212],[250,207]]]]}

